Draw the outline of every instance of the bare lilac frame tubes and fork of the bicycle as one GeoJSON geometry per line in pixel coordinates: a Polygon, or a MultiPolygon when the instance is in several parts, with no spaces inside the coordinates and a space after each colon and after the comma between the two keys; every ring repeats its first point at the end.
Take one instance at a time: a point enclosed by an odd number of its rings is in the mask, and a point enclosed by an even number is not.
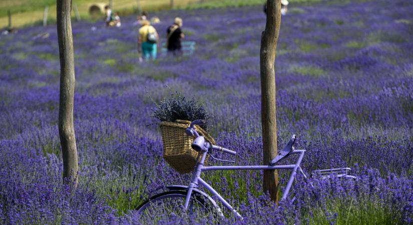
{"type": "MultiPolygon", "coordinates": [[[[191,183],[188,186],[187,196],[185,198],[185,209],[188,208],[189,201],[191,199],[192,190],[197,188],[198,185],[204,186],[207,190],[213,193],[221,202],[222,204],[228,208],[228,210],[235,213],[237,216],[242,216],[230,205],[214,188],[212,188],[205,180],[203,180],[200,176],[203,171],[211,171],[211,170],[264,170],[264,169],[291,169],[292,172],[288,179],[287,185],[285,186],[285,190],[282,194],[281,199],[286,199],[288,192],[292,186],[292,182],[294,181],[294,177],[297,174],[297,170],[301,172],[304,176],[304,172],[300,167],[301,160],[304,156],[305,150],[293,150],[290,154],[299,154],[298,159],[295,164],[287,164],[287,165],[222,165],[222,166],[204,166],[205,157],[208,154],[208,149],[204,149],[201,154],[201,159],[195,165],[195,169],[192,173],[191,183]]],[[[306,176],[305,176],[306,177],[306,176]]]]}

